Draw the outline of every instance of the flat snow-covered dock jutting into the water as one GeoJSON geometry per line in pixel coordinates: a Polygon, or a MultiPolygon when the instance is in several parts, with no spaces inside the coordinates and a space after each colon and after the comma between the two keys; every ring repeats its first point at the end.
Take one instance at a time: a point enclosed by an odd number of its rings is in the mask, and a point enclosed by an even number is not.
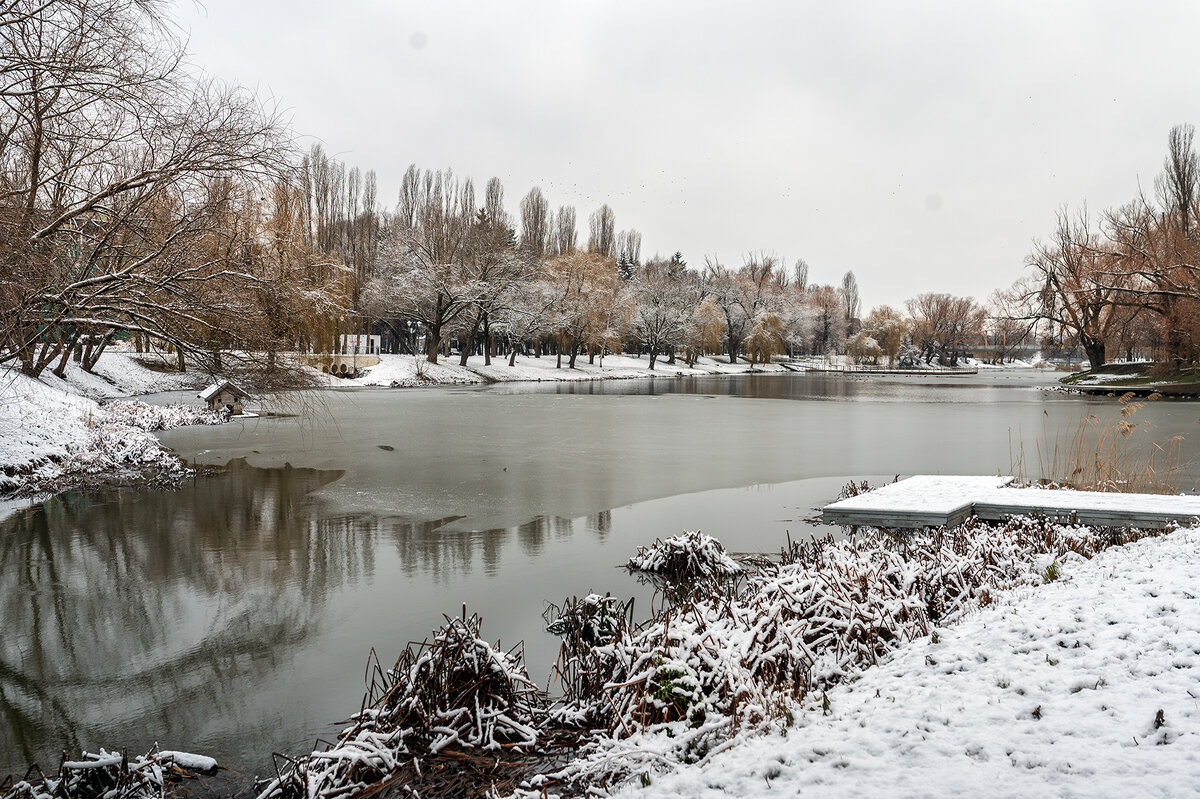
{"type": "Polygon", "coordinates": [[[1016,488],[1012,482],[1012,477],[916,475],[826,505],[823,516],[829,524],[894,528],[958,524],[968,516],[1002,519],[1036,515],[1140,528],[1200,518],[1200,497],[1016,488]]]}

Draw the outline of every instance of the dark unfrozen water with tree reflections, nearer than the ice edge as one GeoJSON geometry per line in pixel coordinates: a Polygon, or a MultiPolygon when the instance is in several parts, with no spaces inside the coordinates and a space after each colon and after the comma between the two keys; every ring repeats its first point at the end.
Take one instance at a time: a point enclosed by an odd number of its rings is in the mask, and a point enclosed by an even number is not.
{"type": "MultiPolygon", "coordinates": [[[[395,657],[461,603],[523,639],[544,681],[544,601],[648,600],[614,567],[635,546],[682,527],[738,549],[782,540],[762,489],[456,533],[456,517],[330,515],[312,492],[338,476],[234,462],[178,492],[64,494],[0,522],[0,773],[154,743],[263,771],[358,705],[368,650],[395,657]]],[[[834,491],[802,483],[773,499],[834,491]]]]}

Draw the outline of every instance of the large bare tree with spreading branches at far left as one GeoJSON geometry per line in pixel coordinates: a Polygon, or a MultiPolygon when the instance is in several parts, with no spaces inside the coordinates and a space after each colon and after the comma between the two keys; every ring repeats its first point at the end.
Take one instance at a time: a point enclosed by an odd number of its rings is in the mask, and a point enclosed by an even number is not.
{"type": "Polygon", "coordinates": [[[0,360],[36,376],[91,335],[194,353],[259,336],[241,299],[264,278],[222,226],[252,184],[287,170],[280,119],[188,72],[156,4],[0,11],[0,360]]]}

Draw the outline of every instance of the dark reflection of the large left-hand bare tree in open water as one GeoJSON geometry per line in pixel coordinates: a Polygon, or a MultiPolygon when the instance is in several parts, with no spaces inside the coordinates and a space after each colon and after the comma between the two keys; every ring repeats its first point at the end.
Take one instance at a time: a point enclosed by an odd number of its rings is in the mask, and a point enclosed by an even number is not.
{"type": "Polygon", "coordinates": [[[307,499],[337,476],[233,469],[0,522],[0,774],[245,714],[329,593],[373,573],[376,531],[307,499]]]}

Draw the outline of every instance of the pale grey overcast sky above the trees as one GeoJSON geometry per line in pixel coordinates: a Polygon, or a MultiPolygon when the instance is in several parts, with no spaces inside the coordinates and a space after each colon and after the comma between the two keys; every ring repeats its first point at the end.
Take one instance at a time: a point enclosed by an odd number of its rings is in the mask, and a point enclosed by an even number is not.
{"type": "Polygon", "coordinates": [[[642,254],[768,251],[858,276],[864,311],[986,299],[1063,204],[1153,190],[1200,121],[1200,4],[182,5],[197,65],[280,102],[306,143],[607,202],[642,254]]]}

